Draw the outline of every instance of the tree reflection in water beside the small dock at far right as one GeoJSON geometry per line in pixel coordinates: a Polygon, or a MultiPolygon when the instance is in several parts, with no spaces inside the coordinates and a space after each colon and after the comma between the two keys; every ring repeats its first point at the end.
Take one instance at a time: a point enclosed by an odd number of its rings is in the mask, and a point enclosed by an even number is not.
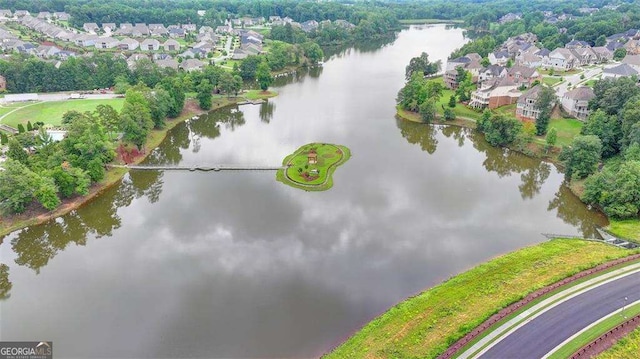
{"type": "Polygon", "coordinates": [[[583,236],[595,238],[596,227],[607,225],[604,214],[589,210],[578,197],[564,184],[560,186],[555,197],[549,201],[549,210],[557,210],[558,218],[580,229],[583,236]]]}

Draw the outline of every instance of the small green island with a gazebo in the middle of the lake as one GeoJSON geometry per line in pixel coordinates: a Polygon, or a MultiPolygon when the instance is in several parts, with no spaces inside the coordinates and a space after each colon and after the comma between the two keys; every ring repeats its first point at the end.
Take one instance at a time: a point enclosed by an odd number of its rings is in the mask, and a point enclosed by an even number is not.
{"type": "Polygon", "coordinates": [[[276,179],[305,191],[326,191],[333,186],[333,172],[350,157],[345,146],[309,143],[285,157],[276,179]]]}

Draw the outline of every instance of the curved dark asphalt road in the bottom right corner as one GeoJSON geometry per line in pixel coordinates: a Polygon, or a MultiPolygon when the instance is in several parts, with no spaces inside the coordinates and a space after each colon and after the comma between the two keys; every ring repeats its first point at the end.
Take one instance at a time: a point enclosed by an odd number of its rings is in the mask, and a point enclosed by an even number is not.
{"type": "Polygon", "coordinates": [[[480,358],[542,358],[589,324],[640,300],[640,272],[622,277],[551,308],[496,343],[480,358]]]}

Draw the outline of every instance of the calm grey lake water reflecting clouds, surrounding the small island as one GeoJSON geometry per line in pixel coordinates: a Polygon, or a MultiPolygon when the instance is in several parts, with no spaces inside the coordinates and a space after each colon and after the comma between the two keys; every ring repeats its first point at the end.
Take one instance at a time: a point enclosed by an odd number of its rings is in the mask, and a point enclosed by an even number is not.
{"type": "MultiPolygon", "coordinates": [[[[132,172],[83,208],[13,233],[0,340],[60,357],[313,357],[460,271],[604,219],[549,164],[472,131],[397,120],[411,57],[461,29],[412,28],[280,79],[260,106],[178,126],[150,163],[278,165],[312,141],[353,157],[327,192],[274,172],[132,172]],[[288,82],[288,83],[287,83],[288,82]]],[[[1,293],[1,292],[0,292],[1,293]]]]}

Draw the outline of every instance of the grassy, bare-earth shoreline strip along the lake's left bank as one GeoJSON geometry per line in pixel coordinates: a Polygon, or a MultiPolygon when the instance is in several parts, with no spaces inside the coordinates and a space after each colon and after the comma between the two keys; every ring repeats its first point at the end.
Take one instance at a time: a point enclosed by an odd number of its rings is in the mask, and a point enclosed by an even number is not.
{"type": "MultiPolygon", "coordinates": [[[[261,92],[259,90],[248,91],[243,96],[233,97],[233,98],[217,98],[214,99],[211,109],[209,111],[215,111],[220,108],[234,105],[238,102],[244,101],[245,99],[266,99],[269,97],[277,96],[277,93],[274,91],[261,92]]],[[[167,136],[167,133],[176,127],[178,124],[184,122],[185,120],[199,114],[206,113],[208,111],[200,110],[197,103],[194,100],[189,100],[185,104],[185,108],[183,109],[180,116],[174,119],[167,119],[165,123],[165,127],[162,129],[154,129],[151,131],[149,136],[147,137],[147,142],[144,145],[143,154],[140,157],[137,157],[133,163],[138,164],[144,161],[147,156],[153,151],[154,148],[158,147],[162,141],[167,136]]],[[[85,203],[88,203],[93,198],[104,192],[105,190],[111,188],[115,184],[117,184],[120,179],[127,173],[128,170],[125,168],[111,168],[106,174],[105,178],[95,183],[89,189],[89,194],[86,196],[75,197],[69,200],[65,200],[62,204],[51,212],[47,212],[44,209],[40,209],[39,211],[27,212],[20,215],[10,216],[10,217],[0,217],[0,244],[2,243],[4,237],[11,232],[17,231],[19,229],[38,225],[45,223],[54,218],[63,216],[73,210],[76,210],[82,207],[85,203]]]]}

